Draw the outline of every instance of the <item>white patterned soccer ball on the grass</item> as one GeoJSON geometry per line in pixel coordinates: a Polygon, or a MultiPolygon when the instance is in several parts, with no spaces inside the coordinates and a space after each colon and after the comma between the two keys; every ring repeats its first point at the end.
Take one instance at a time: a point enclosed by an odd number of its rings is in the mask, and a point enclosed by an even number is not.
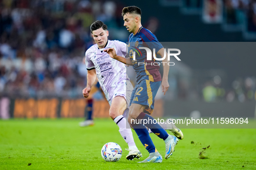
{"type": "Polygon", "coordinates": [[[122,149],[117,143],[108,142],[102,147],[101,156],[107,162],[117,162],[122,157],[122,149]]]}

